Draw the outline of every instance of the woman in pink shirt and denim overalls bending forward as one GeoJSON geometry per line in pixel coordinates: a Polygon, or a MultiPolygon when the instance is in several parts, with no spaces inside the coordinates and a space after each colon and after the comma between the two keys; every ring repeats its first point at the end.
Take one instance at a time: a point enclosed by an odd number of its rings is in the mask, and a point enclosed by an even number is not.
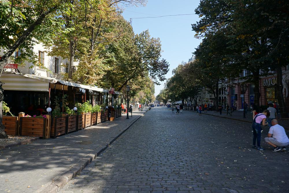
{"type": "Polygon", "coordinates": [[[257,148],[258,150],[264,150],[264,148],[261,147],[261,124],[262,125],[268,125],[266,122],[266,118],[270,116],[270,112],[268,110],[264,110],[263,113],[258,113],[252,123],[253,128],[253,146],[252,148],[257,148]],[[256,146],[256,140],[257,140],[257,146],[256,146]]]}

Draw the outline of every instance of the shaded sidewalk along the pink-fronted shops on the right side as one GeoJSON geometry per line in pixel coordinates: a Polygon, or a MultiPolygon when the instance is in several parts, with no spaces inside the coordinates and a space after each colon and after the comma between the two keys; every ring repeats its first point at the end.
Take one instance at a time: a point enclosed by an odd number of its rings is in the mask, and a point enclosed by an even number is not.
{"type": "MultiPolygon", "coordinates": [[[[195,112],[196,111],[192,111],[195,112]]],[[[230,113],[230,111],[229,111],[230,113]]],[[[234,111],[232,112],[232,116],[230,114],[227,115],[227,113],[225,111],[222,112],[222,115],[220,116],[220,112],[216,112],[216,111],[207,111],[205,113],[205,111],[202,111],[202,115],[204,114],[208,114],[208,115],[213,115],[213,116],[218,116],[218,117],[222,117],[222,118],[226,118],[226,119],[234,119],[234,120],[238,120],[238,121],[244,121],[244,122],[248,122],[248,123],[252,123],[253,121],[253,114],[251,112],[248,111],[248,113],[246,114],[246,118],[243,118],[243,111],[234,111]]],[[[286,130],[289,130],[289,120],[286,119],[281,119],[280,114],[278,114],[278,123],[279,125],[283,126],[286,130]]]]}

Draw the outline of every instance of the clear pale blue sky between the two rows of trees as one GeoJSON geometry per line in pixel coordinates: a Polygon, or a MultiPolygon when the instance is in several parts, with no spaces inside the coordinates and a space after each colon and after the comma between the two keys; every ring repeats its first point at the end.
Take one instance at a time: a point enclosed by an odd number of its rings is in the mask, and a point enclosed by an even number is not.
{"type": "MultiPolygon", "coordinates": [[[[199,0],[148,0],[145,7],[127,7],[123,11],[123,17],[129,21],[134,17],[194,14],[198,5],[199,0]]],[[[192,57],[192,52],[201,42],[194,38],[195,32],[191,28],[191,24],[196,21],[199,21],[199,16],[195,14],[132,19],[132,26],[136,34],[149,29],[151,37],[159,37],[162,41],[162,58],[170,64],[170,71],[166,74],[166,78],[172,76],[172,70],[181,61],[188,62],[192,57]]],[[[164,88],[164,82],[161,85],[155,85],[155,96],[162,88],[164,88]]]]}

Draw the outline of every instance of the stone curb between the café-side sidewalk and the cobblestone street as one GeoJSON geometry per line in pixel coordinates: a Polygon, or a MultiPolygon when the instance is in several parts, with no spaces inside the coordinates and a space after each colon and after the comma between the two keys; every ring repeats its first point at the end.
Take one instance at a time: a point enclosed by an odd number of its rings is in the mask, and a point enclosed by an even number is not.
{"type": "MultiPolygon", "coordinates": [[[[148,109],[144,112],[144,114],[148,111],[148,109]]],[[[114,139],[112,139],[108,144],[105,144],[103,148],[96,148],[97,151],[91,154],[87,154],[84,156],[79,163],[76,164],[75,167],[69,169],[64,172],[60,176],[58,176],[55,180],[52,180],[51,184],[45,187],[44,190],[40,191],[42,193],[55,193],[58,192],[62,187],[64,187],[70,180],[72,180],[77,174],[90,164],[97,156],[99,156],[110,144],[112,144],[118,137],[120,137],[126,130],[128,130],[131,125],[133,125],[140,117],[144,114],[140,115],[136,118],[131,124],[127,126],[120,134],[118,134],[114,139]]],[[[38,190],[39,192],[39,190],[38,190]]]]}

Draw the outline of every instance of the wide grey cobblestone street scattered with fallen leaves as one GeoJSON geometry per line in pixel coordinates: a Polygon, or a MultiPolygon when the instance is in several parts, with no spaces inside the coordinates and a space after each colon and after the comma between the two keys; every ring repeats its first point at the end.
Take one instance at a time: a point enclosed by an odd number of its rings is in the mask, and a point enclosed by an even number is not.
{"type": "Polygon", "coordinates": [[[288,192],[288,152],[251,124],[152,108],[60,192],[288,192]]]}

